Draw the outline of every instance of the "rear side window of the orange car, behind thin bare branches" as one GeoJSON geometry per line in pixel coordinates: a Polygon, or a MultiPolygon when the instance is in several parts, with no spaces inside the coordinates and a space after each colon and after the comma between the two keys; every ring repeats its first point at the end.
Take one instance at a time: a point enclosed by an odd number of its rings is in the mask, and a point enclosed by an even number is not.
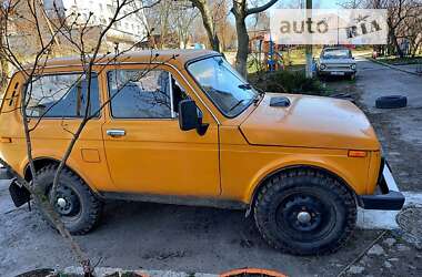
{"type": "MultiPolygon", "coordinates": [[[[36,76],[27,88],[27,95],[28,116],[82,117],[88,104],[88,80],[81,73],[36,76]]],[[[100,107],[97,73],[91,74],[90,99],[88,115],[100,107]]]]}

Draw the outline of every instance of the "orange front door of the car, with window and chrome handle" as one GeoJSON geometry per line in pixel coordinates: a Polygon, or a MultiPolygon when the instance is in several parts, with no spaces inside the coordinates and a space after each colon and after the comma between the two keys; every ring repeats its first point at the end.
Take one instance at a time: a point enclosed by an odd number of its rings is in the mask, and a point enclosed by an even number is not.
{"type": "MultiPolygon", "coordinates": [[[[181,82],[182,81],[182,82],[181,82]]],[[[120,65],[107,72],[111,99],[102,126],[110,175],[119,192],[159,195],[220,194],[218,125],[181,131],[178,102],[189,95],[170,66],[120,65]]]]}

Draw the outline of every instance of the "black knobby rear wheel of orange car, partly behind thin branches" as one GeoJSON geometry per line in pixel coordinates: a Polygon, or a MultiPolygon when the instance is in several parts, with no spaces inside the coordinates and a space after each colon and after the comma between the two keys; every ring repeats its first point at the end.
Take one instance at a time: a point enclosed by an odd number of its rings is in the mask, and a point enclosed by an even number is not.
{"type": "MultiPolygon", "coordinates": [[[[60,215],[66,228],[72,235],[83,235],[94,228],[101,217],[102,202],[96,197],[89,186],[77,174],[63,168],[57,187],[56,199],[66,199],[61,207],[52,201],[51,187],[57,171],[56,165],[47,165],[38,172],[38,185],[49,197],[50,203],[60,215]]],[[[43,218],[52,225],[48,216],[39,209],[43,218]]]]}

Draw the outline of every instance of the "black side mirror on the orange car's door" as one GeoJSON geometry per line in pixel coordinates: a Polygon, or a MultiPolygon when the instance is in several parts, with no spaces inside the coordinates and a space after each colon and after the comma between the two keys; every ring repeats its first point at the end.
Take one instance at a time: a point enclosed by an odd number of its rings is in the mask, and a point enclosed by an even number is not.
{"type": "Polygon", "coordinates": [[[179,126],[182,131],[195,129],[200,135],[207,132],[208,124],[202,124],[202,116],[193,100],[182,100],[179,102],[179,126]]]}

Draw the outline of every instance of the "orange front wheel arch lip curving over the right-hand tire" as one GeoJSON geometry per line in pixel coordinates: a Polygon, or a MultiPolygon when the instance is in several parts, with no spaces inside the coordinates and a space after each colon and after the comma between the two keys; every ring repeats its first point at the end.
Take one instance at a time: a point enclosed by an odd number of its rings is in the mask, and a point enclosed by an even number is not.
{"type": "Polygon", "coordinates": [[[323,174],[330,175],[331,177],[333,177],[336,181],[339,181],[339,183],[342,184],[351,193],[351,195],[353,196],[353,198],[358,203],[358,197],[356,197],[355,191],[339,174],[336,174],[336,173],[334,173],[334,172],[332,172],[332,171],[330,171],[328,168],[324,168],[324,167],[321,167],[321,166],[316,166],[316,165],[298,164],[298,165],[284,166],[284,167],[278,168],[275,171],[272,171],[272,172],[270,172],[269,174],[267,174],[263,178],[261,178],[258,182],[258,184],[253,188],[253,192],[252,192],[250,201],[249,201],[249,207],[248,207],[248,211],[247,211],[247,216],[249,216],[249,214],[253,211],[253,206],[255,205],[258,192],[264,186],[264,184],[267,183],[268,179],[270,179],[275,174],[279,174],[279,173],[282,173],[282,172],[294,171],[294,170],[312,170],[312,171],[315,171],[315,172],[321,172],[323,174]]]}

